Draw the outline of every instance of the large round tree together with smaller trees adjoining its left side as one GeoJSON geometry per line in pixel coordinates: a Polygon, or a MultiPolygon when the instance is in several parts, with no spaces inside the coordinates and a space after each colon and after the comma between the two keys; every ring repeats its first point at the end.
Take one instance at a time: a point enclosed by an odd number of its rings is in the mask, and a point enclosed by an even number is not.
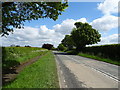
{"type": "Polygon", "coordinates": [[[86,45],[100,42],[101,34],[88,23],[76,22],[75,28],[70,35],[65,35],[64,39],[58,45],[58,50],[66,51],[75,48],[81,51],[86,45]]]}

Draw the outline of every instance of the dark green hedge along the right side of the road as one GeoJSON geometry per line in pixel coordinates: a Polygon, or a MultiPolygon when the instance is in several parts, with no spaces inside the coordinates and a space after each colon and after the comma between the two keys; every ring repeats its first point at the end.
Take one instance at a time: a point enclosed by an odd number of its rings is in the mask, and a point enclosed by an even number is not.
{"type": "Polygon", "coordinates": [[[82,52],[120,61],[120,44],[86,47],[82,52]]]}

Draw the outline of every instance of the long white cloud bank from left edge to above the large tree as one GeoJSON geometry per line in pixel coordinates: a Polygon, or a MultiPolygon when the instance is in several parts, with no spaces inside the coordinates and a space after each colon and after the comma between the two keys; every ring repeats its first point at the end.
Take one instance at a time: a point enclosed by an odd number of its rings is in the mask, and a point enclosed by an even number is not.
{"type": "Polygon", "coordinates": [[[39,28],[25,26],[24,29],[15,29],[7,38],[2,37],[2,45],[42,46],[44,43],[50,43],[56,47],[66,34],[70,34],[74,23],[79,21],[87,22],[86,18],[66,19],[61,24],[54,25],[53,29],[47,28],[46,25],[39,28]]]}

